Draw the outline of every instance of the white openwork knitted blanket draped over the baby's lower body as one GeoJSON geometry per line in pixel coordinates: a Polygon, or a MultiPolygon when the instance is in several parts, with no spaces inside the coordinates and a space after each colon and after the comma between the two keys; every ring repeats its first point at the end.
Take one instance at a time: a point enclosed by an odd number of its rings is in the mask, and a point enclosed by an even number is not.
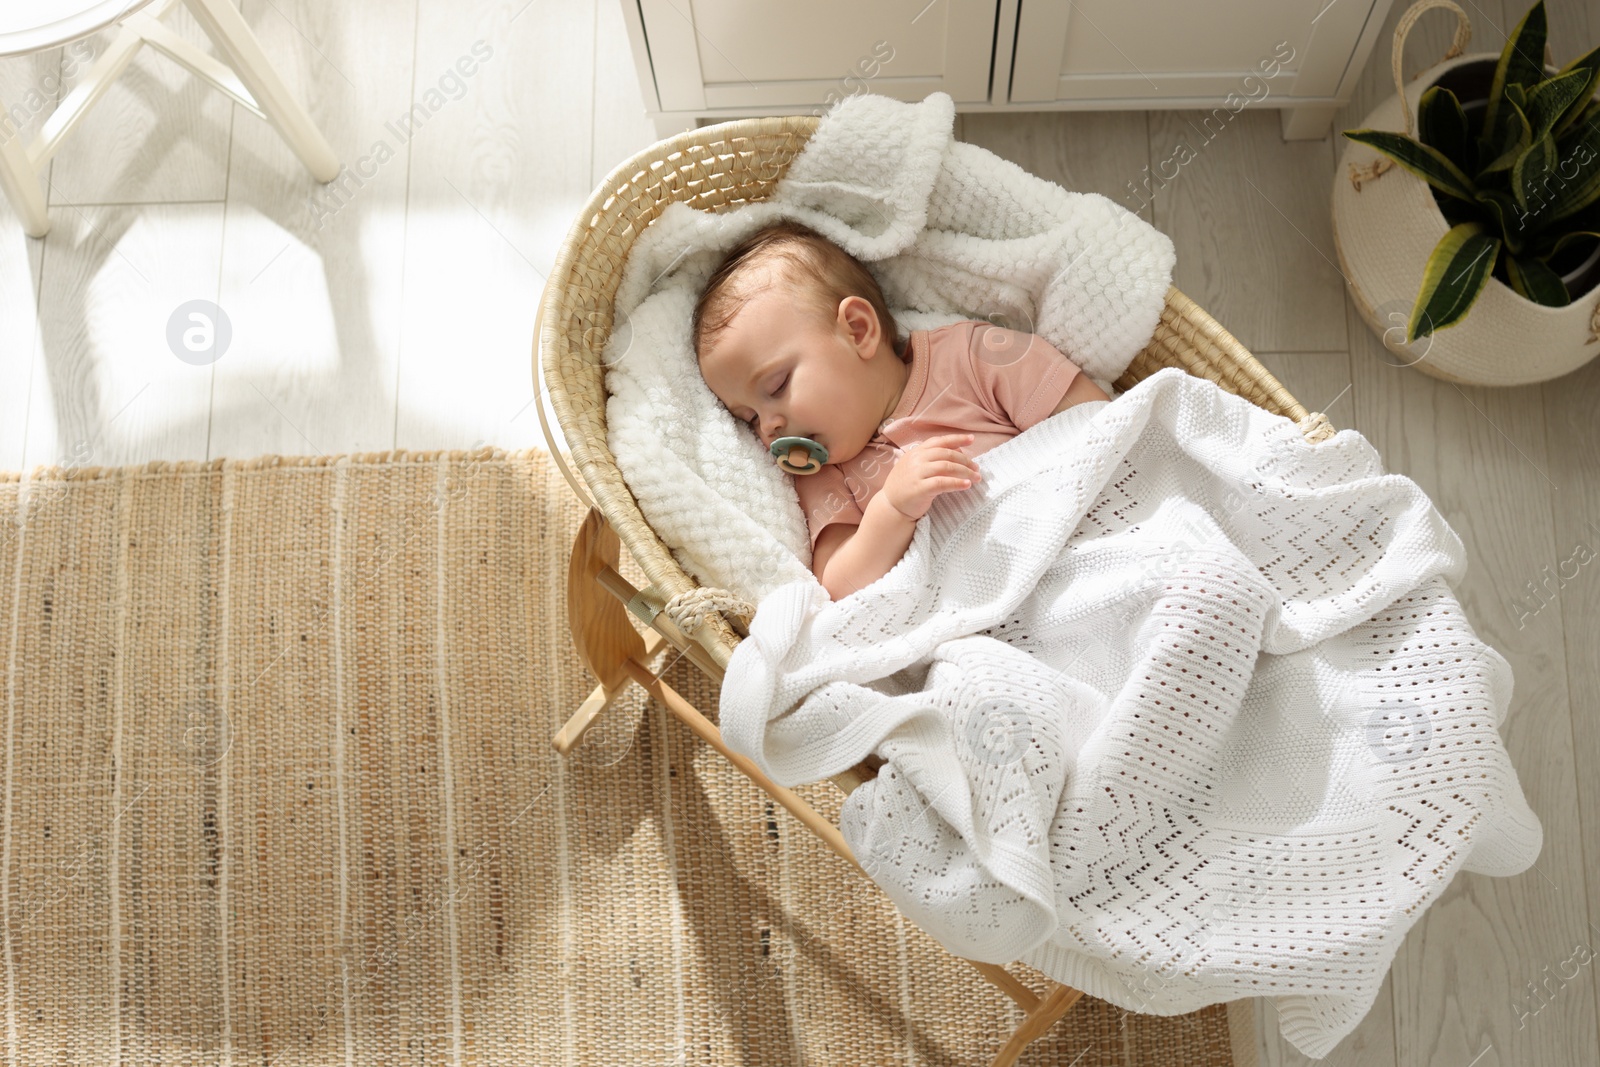
{"type": "Polygon", "coordinates": [[[952,952],[1179,1014],[1270,997],[1322,1057],[1458,869],[1539,854],[1461,541],[1354,430],[1163,370],[981,454],[882,579],[774,592],[723,737],[952,952]]]}

